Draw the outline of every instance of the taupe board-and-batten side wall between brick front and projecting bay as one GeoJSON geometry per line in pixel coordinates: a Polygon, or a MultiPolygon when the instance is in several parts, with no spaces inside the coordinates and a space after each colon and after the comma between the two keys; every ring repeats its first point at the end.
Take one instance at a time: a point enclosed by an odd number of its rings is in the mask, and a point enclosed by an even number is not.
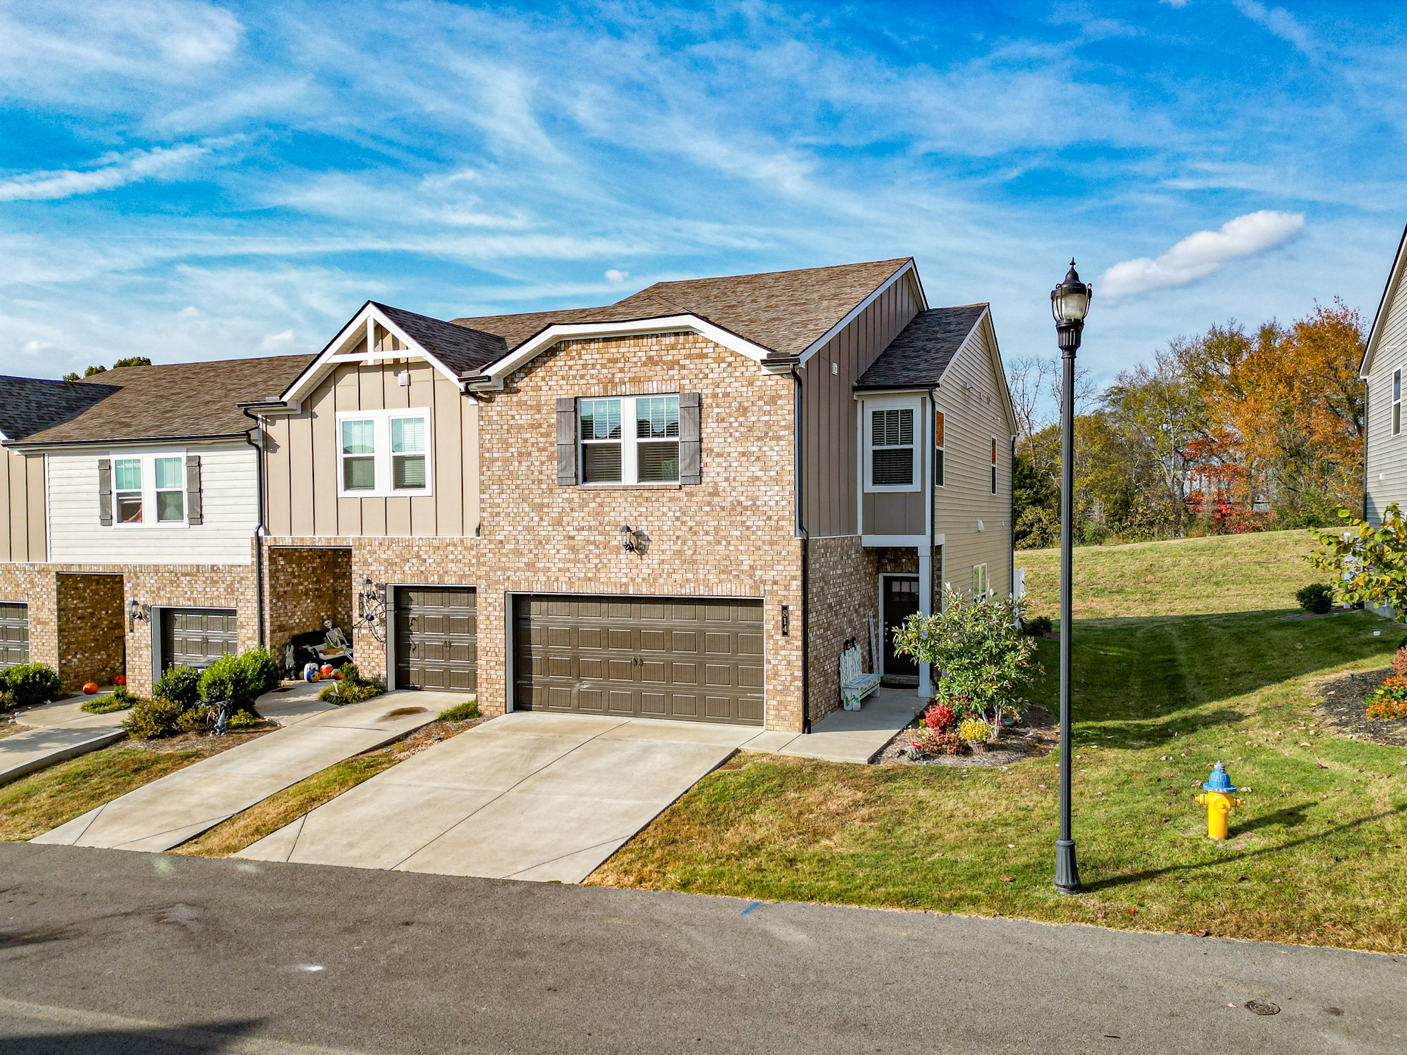
{"type": "Polygon", "coordinates": [[[854,384],[917,311],[913,279],[903,276],[819,349],[799,371],[802,505],[806,530],[813,539],[860,533],[855,522],[860,436],[855,432],[854,384]],[[830,373],[832,363],[839,364],[839,373],[830,373]]]}

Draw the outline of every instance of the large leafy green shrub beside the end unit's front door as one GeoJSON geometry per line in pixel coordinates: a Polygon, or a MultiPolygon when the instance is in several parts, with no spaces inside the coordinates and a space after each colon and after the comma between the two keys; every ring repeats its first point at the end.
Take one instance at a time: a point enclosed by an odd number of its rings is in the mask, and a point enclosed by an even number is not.
{"type": "Polygon", "coordinates": [[[1013,598],[974,602],[950,588],[941,612],[909,616],[893,632],[895,650],[941,671],[938,696],[955,713],[991,710],[1000,729],[1003,712],[1024,713],[1021,692],[1036,670],[1036,641],[1016,629],[1020,615],[1013,598]]]}

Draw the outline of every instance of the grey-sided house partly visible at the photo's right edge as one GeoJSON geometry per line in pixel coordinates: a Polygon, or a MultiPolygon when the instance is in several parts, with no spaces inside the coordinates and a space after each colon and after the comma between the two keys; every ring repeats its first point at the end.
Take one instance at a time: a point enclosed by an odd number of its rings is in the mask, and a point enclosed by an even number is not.
{"type": "Polygon", "coordinates": [[[1358,376],[1365,385],[1363,519],[1382,523],[1393,502],[1407,512],[1407,435],[1403,422],[1403,374],[1407,371],[1407,229],[1377,304],[1358,376]]]}

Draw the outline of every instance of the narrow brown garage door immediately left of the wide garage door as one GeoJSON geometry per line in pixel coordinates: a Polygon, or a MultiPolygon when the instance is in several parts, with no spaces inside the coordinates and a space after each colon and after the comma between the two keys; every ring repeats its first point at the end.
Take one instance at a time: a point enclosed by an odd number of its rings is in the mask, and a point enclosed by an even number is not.
{"type": "Polygon", "coordinates": [[[397,587],[395,688],[478,688],[474,599],[473,587],[397,587]]]}

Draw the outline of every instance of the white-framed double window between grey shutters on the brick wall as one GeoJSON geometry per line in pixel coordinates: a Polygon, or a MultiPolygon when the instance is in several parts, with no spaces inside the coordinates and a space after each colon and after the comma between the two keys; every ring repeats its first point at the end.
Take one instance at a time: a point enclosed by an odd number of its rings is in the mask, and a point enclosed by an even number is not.
{"type": "Polygon", "coordinates": [[[680,482],[680,397],[577,401],[582,484],[680,482]]]}

